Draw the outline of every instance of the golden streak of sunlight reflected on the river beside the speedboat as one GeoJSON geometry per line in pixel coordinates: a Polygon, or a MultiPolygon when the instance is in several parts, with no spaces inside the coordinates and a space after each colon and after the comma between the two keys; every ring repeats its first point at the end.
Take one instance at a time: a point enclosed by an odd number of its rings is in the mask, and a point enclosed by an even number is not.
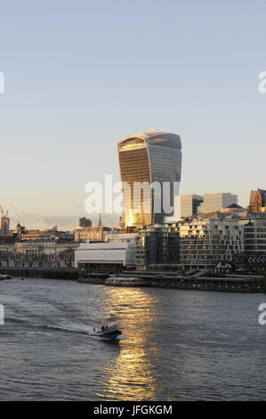
{"type": "Polygon", "coordinates": [[[103,298],[104,308],[109,307],[110,315],[119,318],[125,340],[118,343],[118,356],[102,367],[108,379],[97,396],[102,400],[155,400],[162,357],[156,337],[160,323],[157,297],[141,288],[109,287],[103,298]]]}

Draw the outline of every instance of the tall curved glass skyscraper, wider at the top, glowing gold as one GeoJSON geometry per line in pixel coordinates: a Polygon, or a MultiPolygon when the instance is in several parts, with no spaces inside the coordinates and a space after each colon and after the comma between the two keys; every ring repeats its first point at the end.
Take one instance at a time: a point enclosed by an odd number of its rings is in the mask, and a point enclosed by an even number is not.
{"type": "Polygon", "coordinates": [[[169,204],[173,207],[173,184],[181,182],[180,136],[152,131],[127,136],[117,148],[121,181],[125,183],[125,226],[163,223],[165,216],[173,214],[165,212],[163,184],[169,183],[169,204]],[[141,191],[136,185],[141,185],[141,191]]]}

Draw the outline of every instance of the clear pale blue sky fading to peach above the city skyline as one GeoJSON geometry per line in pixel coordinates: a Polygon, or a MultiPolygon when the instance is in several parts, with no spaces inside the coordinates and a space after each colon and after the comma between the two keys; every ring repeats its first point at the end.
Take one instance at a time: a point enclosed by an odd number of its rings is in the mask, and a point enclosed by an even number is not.
{"type": "MultiPolygon", "coordinates": [[[[0,204],[73,228],[117,141],[181,136],[181,193],[266,189],[266,3],[0,0],[0,204]]],[[[106,224],[117,220],[103,215],[106,224]]]]}

